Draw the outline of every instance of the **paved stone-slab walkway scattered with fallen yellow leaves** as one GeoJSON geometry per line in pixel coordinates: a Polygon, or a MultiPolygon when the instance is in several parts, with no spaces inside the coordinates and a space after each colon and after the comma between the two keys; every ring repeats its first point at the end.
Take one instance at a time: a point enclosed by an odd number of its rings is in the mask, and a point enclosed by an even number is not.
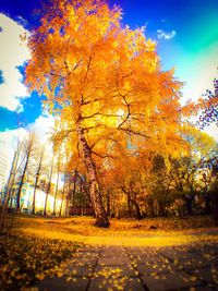
{"type": "Polygon", "coordinates": [[[85,246],[68,262],[63,274],[45,278],[39,290],[218,290],[218,245],[85,246]]]}

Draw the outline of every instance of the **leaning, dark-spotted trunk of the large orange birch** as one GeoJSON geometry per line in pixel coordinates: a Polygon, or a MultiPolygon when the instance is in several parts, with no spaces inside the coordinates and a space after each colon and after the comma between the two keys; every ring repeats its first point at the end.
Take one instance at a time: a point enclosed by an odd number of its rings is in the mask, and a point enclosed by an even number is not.
{"type": "Polygon", "coordinates": [[[90,201],[92,201],[92,205],[93,205],[95,217],[96,217],[95,225],[98,227],[108,228],[109,227],[109,220],[108,220],[108,217],[106,215],[106,210],[104,208],[101,195],[99,192],[99,183],[98,183],[98,179],[97,179],[96,166],[95,166],[95,162],[92,158],[92,151],[90,151],[90,148],[89,148],[87,141],[84,136],[84,132],[83,132],[83,129],[80,124],[80,120],[76,124],[76,132],[77,132],[77,136],[78,136],[80,149],[81,149],[82,155],[83,155],[83,161],[86,166],[87,175],[88,175],[88,180],[89,180],[90,201]]]}

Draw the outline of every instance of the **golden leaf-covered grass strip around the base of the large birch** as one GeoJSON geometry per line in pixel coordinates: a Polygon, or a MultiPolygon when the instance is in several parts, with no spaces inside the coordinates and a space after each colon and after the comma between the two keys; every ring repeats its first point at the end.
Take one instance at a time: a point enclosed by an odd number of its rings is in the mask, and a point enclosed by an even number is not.
{"type": "MultiPolygon", "coordinates": [[[[206,240],[208,228],[216,229],[209,216],[153,219],[111,219],[109,229],[94,226],[92,217],[43,218],[14,216],[8,219],[12,233],[77,241],[87,244],[173,245],[206,240]],[[13,223],[10,222],[10,219],[13,223]],[[156,229],[150,229],[155,227],[156,229]],[[197,235],[196,235],[197,234],[197,235]],[[158,239],[159,238],[159,239],[158,239]],[[131,242],[132,241],[132,242],[131,242]]],[[[213,235],[216,239],[216,235],[213,235]]]]}

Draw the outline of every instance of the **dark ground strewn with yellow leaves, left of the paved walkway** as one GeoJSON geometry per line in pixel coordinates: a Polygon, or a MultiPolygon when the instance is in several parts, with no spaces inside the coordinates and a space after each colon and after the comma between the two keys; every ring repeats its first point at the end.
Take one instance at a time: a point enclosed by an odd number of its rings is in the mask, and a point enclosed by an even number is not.
{"type": "Polygon", "coordinates": [[[21,234],[0,238],[1,290],[22,290],[43,280],[48,274],[57,276],[61,262],[71,258],[77,243],[21,234]]]}

